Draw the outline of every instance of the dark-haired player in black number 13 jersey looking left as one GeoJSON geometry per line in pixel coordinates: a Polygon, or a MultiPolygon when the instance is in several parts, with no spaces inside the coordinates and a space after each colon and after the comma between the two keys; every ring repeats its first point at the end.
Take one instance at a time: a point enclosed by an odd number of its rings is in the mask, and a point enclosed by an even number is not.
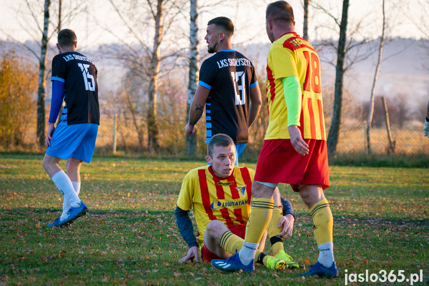
{"type": "MultiPolygon", "coordinates": [[[[204,37],[208,52],[200,69],[199,82],[189,111],[185,132],[192,135],[206,107],[207,140],[218,133],[229,135],[235,143],[237,159],[249,139],[249,127],[262,104],[255,67],[243,54],[233,50],[234,25],[227,17],[207,24],[204,37]]],[[[236,161],[238,166],[238,160],[236,161]]]]}

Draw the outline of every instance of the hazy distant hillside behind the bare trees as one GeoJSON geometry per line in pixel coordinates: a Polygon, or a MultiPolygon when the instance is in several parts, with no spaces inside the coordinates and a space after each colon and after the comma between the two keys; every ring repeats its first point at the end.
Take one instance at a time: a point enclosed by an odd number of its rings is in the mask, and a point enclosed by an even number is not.
{"type": "MultiPolygon", "coordinates": [[[[40,53],[36,43],[26,42],[26,45],[36,51],[36,54],[40,53]]],[[[118,44],[112,45],[117,46],[118,44]]],[[[377,45],[377,42],[373,42],[348,52],[351,57],[370,55],[364,61],[355,63],[347,71],[344,78],[344,88],[362,102],[368,101],[370,97],[375,63],[378,56],[377,45]]],[[[314,46],[317,47],[316,44],[314,46]]],[[[383,62],[377,81],[376,95],[391,98],[400,94],[406,95],[410,108],[415,108],[415,105],[421,104],[425,100],[427,102],[429,99],[429,52],[427,47],[429,47],[429,40],[394,39],[387,44],[383,50],[383,62]]],[[[249,44],[235,48],[250,58],[260,76],[265,77],[266,55],[269,43],[249,44]]],[[[8,50],[15,50],[16,55],[37,66],[37,58],[27,48],[16,43],[0,41],[0,56],[8,50]]],[[[103,50],[108,50],[108,47],[104,47],[103,50]]],[[[124,69],[119,61],[114,60],[111,55],[102,52],[98,47],[81,51],[91,58],[98,68],[98,82],[101,92],[107,93],[120,87],[124,69]]],[[[50,47],[48,55],[49,69],[50,60],[56,53],[58,53],[56,47],[50,47]]],[[[208,56],[204,47],[201,50],[201,61],[208,56]]],[[[319,52],[319,56],[322,60],[329,58],[335,60],[335,55],[326,49],[322,49],[319,52]]],[[[323,86],[325,88],[334,86],[335,68],[323,62],[322,69],[323,86]]]]}

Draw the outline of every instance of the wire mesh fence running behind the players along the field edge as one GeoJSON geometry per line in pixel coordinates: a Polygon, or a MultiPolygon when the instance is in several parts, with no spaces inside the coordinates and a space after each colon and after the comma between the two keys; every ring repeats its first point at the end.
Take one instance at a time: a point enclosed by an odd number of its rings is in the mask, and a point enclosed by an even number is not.
{"type": "MultiPolygon", "coordinates": [[[[147,145],[147,132],[146,121],[141,118],[136,124],[132,122],[131,118],[122,116],[117,119],[116,134],[113,132],[113,116],[104,117],[102,125],[100,126],[97,146],[105,149],[113,147],[113,140],[116,138],[117,150],[124,152],[139,149],[138,135],[136,126],[139,126],[143,131],[144,143],[147,145]]],[[[184,153],[185,151],[185,137],[183,127],[184,120],[176,120],[163,122],[160,128],[160,146],[164,150],[169,150],[172,154],[184,153]]],[[[259,126],[260,127],[260,126],[259,126]]],[[[251,127],[258,128],[257,124],[251,127]]],[[[261,128],[260,128],[261,129],[261,128]]],[[[203,118],[197,124],[198,143],[199,149],[202,154],[205,154],[205,122],[203,118]]],[[[328,127],[329,130],[329,127],[328,127]]],[[[249,140],[248,153],[251,151],[259,151],[263,143],[263,130],[258,132],[251,132],[249,140]],[[255,134],[256,133],[256,134],[255,134]],[[253,135],[253,136],[252,136],[253,135]]],[[[391,136],[393,138],[395,148],[393,153],[398,154],[429,154],[429,138],[423,135],[423,124],[420,126],[398,128],[391,127],[391,136]]],[[[370,129],[370,143],[371,152],[376,154],[386,154],[392,152],[389,150],[390,142],[386,128],[377,127],[370,129]]],[[[113,150],[112,150],[113,151],[113,150]]],[[[343,124],[340,129],[340,136],[337,145],[337,153],[366,153],[367,152],[367,139],[366,139],[366,123],[353,122],[343,124]]]]}

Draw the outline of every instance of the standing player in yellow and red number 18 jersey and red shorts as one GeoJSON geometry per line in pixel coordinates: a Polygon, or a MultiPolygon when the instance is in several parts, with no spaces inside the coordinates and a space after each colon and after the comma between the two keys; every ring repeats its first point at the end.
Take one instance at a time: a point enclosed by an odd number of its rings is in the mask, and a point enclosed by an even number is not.
{"type": "MultiPolygon", "coordinates": [[[[329,187],[320,62],[313,47],[295,32],[292,7],[285,1],[266,8],[266,32],[272,45],[267,59],[269,122],[252,185],[252,212],[240,252],[220,261],[225,270],[253,272],[260,238],[273,215],[278,183],[299,192],[313,217],[319,258],[299,276],[335,277],[333,217],[323,190],[329,187]]],[[[212,261],[217,267],[219,261],[212,261]]]]}

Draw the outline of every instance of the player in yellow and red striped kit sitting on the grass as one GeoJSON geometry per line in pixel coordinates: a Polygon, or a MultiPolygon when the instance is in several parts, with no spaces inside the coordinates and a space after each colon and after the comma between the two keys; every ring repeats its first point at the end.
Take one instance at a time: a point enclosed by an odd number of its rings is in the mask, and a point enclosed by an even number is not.
{"type": "MultiPolygon", "coordinates": [[[[177,198],[174,214],[180,234],[189,246],[187,255],[179,263],[194,258],[198,262],[199,248],[203,261],[228,258],[244,242],[255,171],[234,166],[234,142],[226,134],[213,136],[207,149],[207,162],[210,165],[189,171],[177,198]],[[188,214],[190,208],[193,208],[197,223],[197,237],[193,234],[188,214]]],[[[282,199],[280,202],[278,190],[275,192],[274,210],[273,223],[269,223],[267,229],[274,256],[262,252],[264,236],[254,255],[255,260],[268,269],[279,270],[284,266],[298,268],[298,264],[291,261],[283,249],[283,238],[292,235],[295,212],[289,201],[282,199]]]]}

